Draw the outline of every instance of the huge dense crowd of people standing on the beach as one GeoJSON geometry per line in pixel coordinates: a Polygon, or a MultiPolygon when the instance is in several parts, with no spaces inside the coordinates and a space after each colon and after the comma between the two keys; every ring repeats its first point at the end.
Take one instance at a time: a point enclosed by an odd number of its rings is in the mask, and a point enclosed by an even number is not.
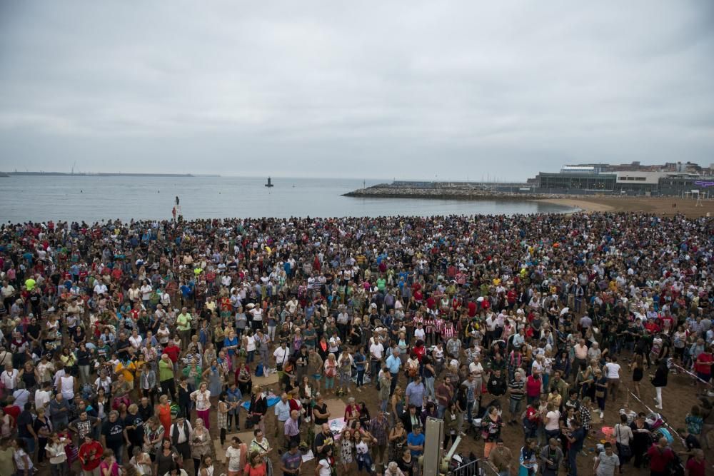
{"type": "Polygon", "coordinates": [[[703,475],[713,248],[638,213],[8,223],[0,474],[413,476],[431,417],[501,476],[577,475],[595,421],[598,476],[703,475]],[[640,404],[673,370],[682,445],[640,404]]]}

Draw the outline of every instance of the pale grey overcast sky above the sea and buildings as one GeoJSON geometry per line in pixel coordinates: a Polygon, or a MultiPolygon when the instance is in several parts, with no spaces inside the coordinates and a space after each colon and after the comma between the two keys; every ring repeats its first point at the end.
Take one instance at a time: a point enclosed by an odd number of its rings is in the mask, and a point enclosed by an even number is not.
{"type": "Polygon", "coordinates": [[[0,170],[714,163],[714,2],[2,1],[0,170]]]}

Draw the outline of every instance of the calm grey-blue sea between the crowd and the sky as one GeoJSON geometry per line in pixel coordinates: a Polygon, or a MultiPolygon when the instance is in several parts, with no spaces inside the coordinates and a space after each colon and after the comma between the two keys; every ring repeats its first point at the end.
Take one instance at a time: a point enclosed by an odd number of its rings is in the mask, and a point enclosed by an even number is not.
{"type": "Polygon", "coordinates": [[[0,221],[166,220],[178,196],[186,220],[567,213],[534,201],[344,197],[383,180],[272,177],[11,176],[0,178],[0,221]]]}

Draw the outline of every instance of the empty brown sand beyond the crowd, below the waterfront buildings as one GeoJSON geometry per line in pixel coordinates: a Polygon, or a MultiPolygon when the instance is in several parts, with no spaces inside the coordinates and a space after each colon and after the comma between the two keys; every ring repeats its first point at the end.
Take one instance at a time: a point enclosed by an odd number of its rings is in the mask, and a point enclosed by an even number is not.
{"type": "Polygon", "coordinates": [[[714,199],[702,200],[700,206],[692,198],[675,197],[582,197],[542,198],[535,200],[556,205],[577,207],[585,212],[644,212],[671,216],[683,213],[688,218],[714,216],[714,199]]]}

